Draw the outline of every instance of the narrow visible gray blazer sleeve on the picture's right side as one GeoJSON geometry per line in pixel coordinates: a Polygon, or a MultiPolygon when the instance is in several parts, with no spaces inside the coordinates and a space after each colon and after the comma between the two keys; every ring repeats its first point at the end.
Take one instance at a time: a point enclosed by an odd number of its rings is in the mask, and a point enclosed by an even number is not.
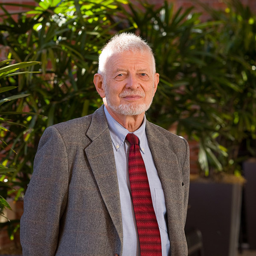
{"type": "MultiPolygon", "coordinates": [[[[182,175],[183,175],[183,182],[185,186],[184,191],[184,213],[183,213],[183,221],[184,221],[184,227],[186,224],[186,215],[187,215],[187,209],[188,209],[188,201],[189,201],[189,176],[190,176],[190,165],[189,165],[189,143],[183,139],[186,144],[186,156],[183,163],[182,168],[182,175]]],[[[185,153],[185,152],[184,152],[185,153]]]]}

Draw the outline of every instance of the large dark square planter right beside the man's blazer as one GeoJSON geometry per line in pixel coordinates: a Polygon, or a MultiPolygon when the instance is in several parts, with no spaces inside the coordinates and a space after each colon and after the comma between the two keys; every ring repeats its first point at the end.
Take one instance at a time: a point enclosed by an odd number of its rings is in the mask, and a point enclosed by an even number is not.
{"type": "Polygon", "coordinates": [[[202,233],[204,255],[236,256],[242,183],[190,183],[186,229],[202,233]]]}

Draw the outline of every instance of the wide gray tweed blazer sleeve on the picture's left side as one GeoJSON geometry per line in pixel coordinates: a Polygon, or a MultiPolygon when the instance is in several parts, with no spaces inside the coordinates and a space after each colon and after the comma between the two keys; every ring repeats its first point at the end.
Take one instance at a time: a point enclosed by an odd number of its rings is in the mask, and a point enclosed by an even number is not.
{"type": "Polygon", "coordinates": [[[23,256],[55,255],[68,184],[67,148],[57,128],[51,126],[41,137],[24,198],[24,213],[20,220],[23,256]]]}

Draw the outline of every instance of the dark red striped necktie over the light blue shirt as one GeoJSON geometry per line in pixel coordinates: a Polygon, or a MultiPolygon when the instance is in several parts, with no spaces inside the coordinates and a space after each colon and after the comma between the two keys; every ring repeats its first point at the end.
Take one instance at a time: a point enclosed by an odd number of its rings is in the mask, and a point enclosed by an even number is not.
{"type": "Polygon", "coordinates": [[[140,256],[162,256],[160,231],[154,212],[148,176],[140,154],[139,139],[127,134],[129,151],[129,179],[134,213],[140,240],[140,256]]]}

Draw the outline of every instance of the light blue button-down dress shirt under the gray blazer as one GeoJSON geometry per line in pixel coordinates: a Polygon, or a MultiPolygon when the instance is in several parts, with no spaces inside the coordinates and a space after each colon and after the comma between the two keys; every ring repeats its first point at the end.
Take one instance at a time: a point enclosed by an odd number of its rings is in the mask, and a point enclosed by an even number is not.
{"type": "MultiPolygon", "coordinates": [[[[113,151],[116,162],[116,172],[119,184],[119,194],[122,212],[123,227],[123,250],[122,256],[140,256],[140,243],[137,232],[134,208],[131,199],[131,188],[128,172],[128,156],[130,143],[125,140],[129,133],[122,125],[119,124],[104,107],[105,115],[108,121],[108,127],[113,143],[113,151]]],[[[134,131],[134,134],[140,140],[140,152],[143,157],[148,183],[153,202],[154,211],[156,212],[157,223],[160,230],[162,256],[170,255],[170,241],[167,229],[166,204],[163,194],[163,187],[154,164],[154,160],[148,146],[148,140],[145,133],[145,116],[143,124],[134,131]]]]}

